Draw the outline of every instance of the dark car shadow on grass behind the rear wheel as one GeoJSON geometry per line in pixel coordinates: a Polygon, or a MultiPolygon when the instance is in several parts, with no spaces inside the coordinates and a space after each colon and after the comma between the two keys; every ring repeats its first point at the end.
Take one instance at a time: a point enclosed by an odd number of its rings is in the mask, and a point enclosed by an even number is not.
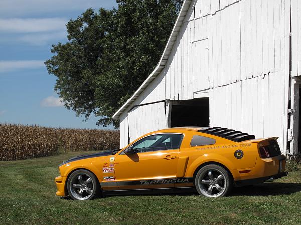
{"type": "Polygon", "coordinates": [[[233,188],[229,196],[289,195],[301,191],[301,183],[261,183],[233,188]]]}

